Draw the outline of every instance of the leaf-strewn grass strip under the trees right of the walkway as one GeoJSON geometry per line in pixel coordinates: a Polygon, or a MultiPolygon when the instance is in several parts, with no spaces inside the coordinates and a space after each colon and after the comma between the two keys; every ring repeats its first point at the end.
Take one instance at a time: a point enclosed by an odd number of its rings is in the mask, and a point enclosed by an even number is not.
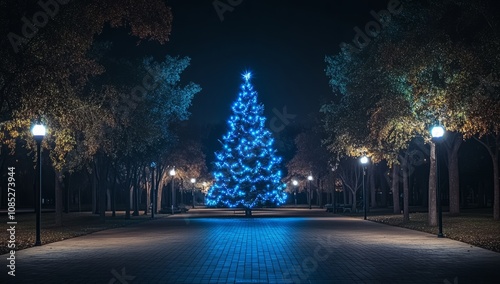
{"type": "MultiPolygon", "coordinates": [[[[410,221],[403,222],[402,214],[373,212],[368,214],[368,220],[437,236],[438,227],[429,226],[427,216],[427,212],[410,213],[410,221]]],[[[492,209],[465,209],[458,216],[443,212],[443,234],[446,238],[500,252],[500,221],[493,220],[492,209]]]]}

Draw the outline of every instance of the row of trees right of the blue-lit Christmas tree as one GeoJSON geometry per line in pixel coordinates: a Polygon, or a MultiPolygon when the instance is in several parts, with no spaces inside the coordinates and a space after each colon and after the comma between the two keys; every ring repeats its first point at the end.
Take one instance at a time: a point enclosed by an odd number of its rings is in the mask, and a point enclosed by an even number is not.
{"type": "MultiPolygon", "coordinates": [[[[490,156],[493,216],[500,220],[500,41],[493,5],[481,0],[404,1],[398,15],[381,16],[383,30],[366,30],[370,42],[357,38],[359,49],[345,44],[326,56],[333,96],[321,106],[322,129],[297,137],[288,180],[307,174],[298,169],[311,171],[320,177],[320,188],[334,169],[356,200],[360,165],[354,159],[367,155],[372,163],[392,169],[395,213],[400,212],[403,182],[401,205],[409,220],[411,159],[415,149],[428,149],[423,151],[428,156],[417,158],[430,160],[427,207],[429,223],[436,225],[436,145],[430,129],[441,125],[446,129],[439,149],[448,166],[450,214],[460,212],[459,149],[472,139],[490,156]],[[313,136],[317,139],[308,142],[313,136]],[[317,148],[318,140],[323,150],[317,148]]],[[[375,183],[373,175],[368,174],[367,182],[375,183]]],[[[374,194],[372,190],[372,206],[374,194]]]]}

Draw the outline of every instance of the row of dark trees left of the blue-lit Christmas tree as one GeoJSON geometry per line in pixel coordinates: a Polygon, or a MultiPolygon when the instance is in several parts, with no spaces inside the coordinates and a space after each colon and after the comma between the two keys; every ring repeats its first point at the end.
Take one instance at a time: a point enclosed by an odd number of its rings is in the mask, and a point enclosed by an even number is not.
{"type": "Polygon", "coordinates": [[[161,190],[173,166],[178,179],[206,176],[200,143],[182,141],[189,155],[179,147],[180,125],[201,91],[181,79],[189,57],[157,59],[139,51],[144,41],[167,43],[172,11],[164,1],[2,3],[0,170],[21,164],[24,154],[34,157],[30,129],[44,124],[42,156],[54,171],[57,224],[63,185],[74,174],[88,176],[93,212],[103,220],[110,207],[114,214],[116,193],[127,217],[131,209],[137,213],[142,189],[150,204],[149,191],[157,188],[161,208],[161,190]],[[110,40],[109,35],[125,33],[136,46],[110,40]],[[132,55],[118,54],[123,49],[132,55]]]}

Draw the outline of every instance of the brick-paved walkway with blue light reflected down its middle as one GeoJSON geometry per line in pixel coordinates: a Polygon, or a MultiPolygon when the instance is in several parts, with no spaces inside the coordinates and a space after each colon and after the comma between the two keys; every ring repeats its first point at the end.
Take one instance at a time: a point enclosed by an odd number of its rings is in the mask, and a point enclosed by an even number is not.
{"type": "Polygon", "coordinates": [[[499,253],[323,210],[192,210],[19,251],[15,278],[6,257],[1,283],[500,283],[499,253]]]}

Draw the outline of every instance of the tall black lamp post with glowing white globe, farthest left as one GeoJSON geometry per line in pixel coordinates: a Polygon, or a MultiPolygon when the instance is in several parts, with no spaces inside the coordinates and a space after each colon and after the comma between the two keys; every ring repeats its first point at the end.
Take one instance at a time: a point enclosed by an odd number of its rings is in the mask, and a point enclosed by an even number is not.
{"type": "Polygon", "coordinates": [[[42,124],[36,124],[31,130],[33,138],[36,141],[36,153],[38,161],[38,188],[35,194],[35,211],[36,211],[36,240],[35,246],[41,246],[42,241],[40,240],[40,224],[42,216],[42,140],[45,136],[45,126],[42,124]]]}

